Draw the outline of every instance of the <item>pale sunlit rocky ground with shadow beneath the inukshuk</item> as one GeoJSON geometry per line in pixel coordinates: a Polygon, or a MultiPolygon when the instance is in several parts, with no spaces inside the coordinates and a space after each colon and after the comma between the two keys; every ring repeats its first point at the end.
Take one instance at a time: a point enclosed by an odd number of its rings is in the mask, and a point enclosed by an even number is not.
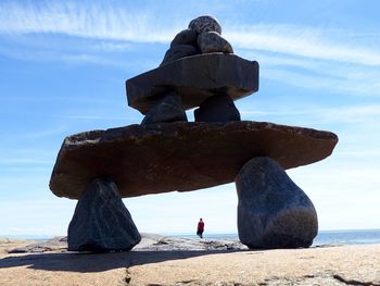
{"type": "Polygon", "coordinates": [[[233,240],[143,235],[130,252],[0,240],[0,285],[380,285],[380,245],[248,250],[233,240]]]}

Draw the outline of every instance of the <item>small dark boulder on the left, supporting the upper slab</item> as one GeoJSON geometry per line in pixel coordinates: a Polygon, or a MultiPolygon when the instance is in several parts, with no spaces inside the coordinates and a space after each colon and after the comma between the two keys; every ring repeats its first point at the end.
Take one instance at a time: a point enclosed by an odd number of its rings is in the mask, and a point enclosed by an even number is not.
{"type": "Polygon", "coordinates": [[[141,124],[153,124],[160,122],[188,121],[180,96],[172,91],[154,108],[152,108],[142,120],[141,124]]]}

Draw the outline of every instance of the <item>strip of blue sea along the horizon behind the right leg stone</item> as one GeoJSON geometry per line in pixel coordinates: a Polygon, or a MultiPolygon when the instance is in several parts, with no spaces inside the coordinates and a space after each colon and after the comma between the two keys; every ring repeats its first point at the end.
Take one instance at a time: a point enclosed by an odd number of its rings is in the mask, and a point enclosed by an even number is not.
{"type": "MultiPolygon", "coordinates": [[[[197,235],[176,235],[197,238],[197,235]]],[[[203,234],[205,239],[235,239],[238,234],[203,234]]],[[[319,231],[313,246],[380,244],[380,229],[319,231]]]]}

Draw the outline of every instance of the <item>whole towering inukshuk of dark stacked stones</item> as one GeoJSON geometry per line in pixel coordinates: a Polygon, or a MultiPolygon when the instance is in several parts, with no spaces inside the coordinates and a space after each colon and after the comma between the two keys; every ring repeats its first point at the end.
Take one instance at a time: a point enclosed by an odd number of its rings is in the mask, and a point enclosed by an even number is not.
{"type": "MultiPolygon", "coordinates": [[[[318,221],[284,170],[330,156],[329,132],[240,121],[233,101],[258,89],[258,63],[233,54],[212,16],[175,36],[160,67],[126,82],[141,124],[68,136],[50,188],[78,199],[68,249],[129,250],[140,241],[122,198],[236,182],[238,232],[250,248],[308,247],[318,221]],[[186,110],[193,109],[195,122],[186,110]]],[[[217,191],[217,190],[214,190],[217,191]]],[[[221,210],[220,210],[221,211],[221,210]]]]}

